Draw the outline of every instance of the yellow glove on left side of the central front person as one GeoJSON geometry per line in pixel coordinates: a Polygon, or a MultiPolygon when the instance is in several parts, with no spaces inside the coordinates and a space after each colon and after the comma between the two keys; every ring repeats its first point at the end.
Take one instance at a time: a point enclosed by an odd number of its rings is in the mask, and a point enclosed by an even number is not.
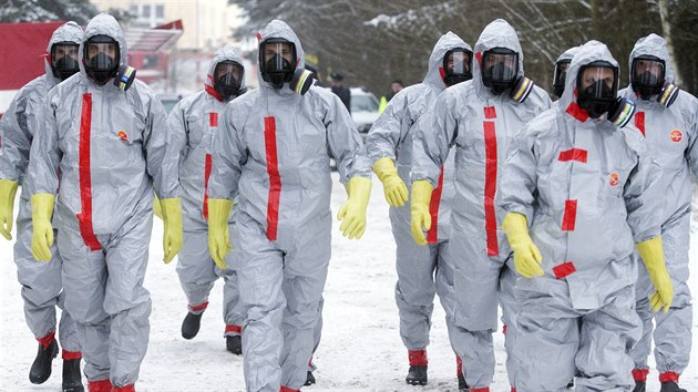
{"type": "Polygon", "coordinates": [[[227,198],[208,199],[208,251],[216,266],[227,269],[225,256],[230,252],[230,233],[228,217],[233,212],[233,202],[227,198]]]}

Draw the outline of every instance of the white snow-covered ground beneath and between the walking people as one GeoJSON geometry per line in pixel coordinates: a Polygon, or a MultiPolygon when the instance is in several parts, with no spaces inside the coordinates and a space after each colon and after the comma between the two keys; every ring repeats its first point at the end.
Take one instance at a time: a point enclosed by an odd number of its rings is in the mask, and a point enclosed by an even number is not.
{"type": "MultiPolygon", "coordinates": [[[[333,178],[337,180],[336,173],[333,178]]],[[[18,197],[19,199],[19,197],[18,197]]],[[[335,214],[346,199],[342,186],[335,186],[335,214]]],[[[17,210],[17,209],[16,209],[17,210]]],[[[350,241],[333,225],[332,260],[325,289],[325,328],[316,353],[318,383],[307,391],[455,391],[455,359],[450,348],[444,313],[434,307],[431,345],[429,347],[429,384],[404,383],[407,351],[398,332],[398,309],[393,299],[396,281],[394,243],[388,220],[388,206],[382,186],[373,180],[369,204],[369,223],[363,238],[350,241]]],[[[698,221],[694,221],[691,267],[698,259],[698,221]]],[[[179,334],[186,313],[186,301],[174,262],[161,260],[162,224],[156,220],[151,243],[151,265],[145,287],[153,297],[151,342],[141,368],[140,391],[242,391],[242,358],[225,350],[223,339],[222,283],[216,285],[202,330],[192,341],[179,334]]],[[[235,246],[235,245],[234,245],[235,246]]],[[[37,342],[24,322],[12,246],[0,240],[0,390],[60,391],[61,360],[53,363],[53,375],[42,385],[29,383],[29,367],[37,342]]],[[[690,287],[697,288],[696,274],[690,287]]],[[[696,309],[696,308],[695,308],[696,309]]],[[[694,309],[694,314],[696,310],[694,309]]],[[[500,328],[501,330],[501,328],[500,328]]],[[[694,317],[691,363],[681,376],[688,391],[698,391],[698,317],[694,317]]],[[[509,391],[504,370],[504,338],[497,332],[496,374],[493,392],[509,391]]],[[[650,358],[654,364],[654,360],[650,358]]],[[[657,373],[651,371],[648,391],[658,391],[657,373]]]]}

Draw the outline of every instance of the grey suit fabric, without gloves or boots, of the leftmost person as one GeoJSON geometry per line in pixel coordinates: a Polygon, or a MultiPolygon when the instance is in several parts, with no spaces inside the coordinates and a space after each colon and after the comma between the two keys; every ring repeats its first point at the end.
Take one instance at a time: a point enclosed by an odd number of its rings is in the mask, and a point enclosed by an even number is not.
{"type": "MultiPolygon", "coordinates": [[[[58,28],[51,35],[47,52],[58,42],[80,44],[82,29],[75,22],[68,22],[58,28]]],[[[0,120],[0,178],[22,185],[17,216],[17,243],[14,243],[14,262],[17,279],[22,285],[24,300],[24,318],[37,339],[44,338],[55,331],[55,307],[61,308],[59,340],[65,351],[80,352],[80,342],[75,331],[75,322],[64,309],[63,279],[61,267],[63,261],[57,246],[51,246],[51,262],[39,262],[31,254],[30,195],[23,186],[24,173],[29,164],[29,151],[37,130],[41,131],[41,105],[47,94],[60,79],[53,75],[49,59],[44,59],[45,73],[24,85],[14,96],[10,107],[0,120]]],[[[54,236],[58,231],[54,230],[54,236]]],[[[69,353],[70,355],[70,353],[69,353]]]]}

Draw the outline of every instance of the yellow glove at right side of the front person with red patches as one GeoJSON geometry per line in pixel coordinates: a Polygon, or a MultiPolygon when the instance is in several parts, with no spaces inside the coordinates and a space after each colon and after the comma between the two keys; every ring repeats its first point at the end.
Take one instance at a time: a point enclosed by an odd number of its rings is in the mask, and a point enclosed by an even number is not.
{"type": "Polygon", "coordinates": [[[655,292],[649,296],[649,305],[654,311],[664,308],[664,312],[669,311],[671,301],[674,300],[674,285],[667,271],[664,260],[664,250],[661,249],[661,236],[648,239],[635,245],[637,252],[640,254],[649,280],[655,286],[655,292]]]}

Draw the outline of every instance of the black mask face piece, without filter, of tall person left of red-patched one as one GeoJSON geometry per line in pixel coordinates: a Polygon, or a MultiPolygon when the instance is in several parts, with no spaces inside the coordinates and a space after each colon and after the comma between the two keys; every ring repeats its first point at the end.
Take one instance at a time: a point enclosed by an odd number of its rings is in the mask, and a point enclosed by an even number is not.
{"type": "Polygon", "coordinates": [[[494,48],[482,55],[482,84],[496,95],[514,86],[519,74],[519,53],[494,48]]]}

